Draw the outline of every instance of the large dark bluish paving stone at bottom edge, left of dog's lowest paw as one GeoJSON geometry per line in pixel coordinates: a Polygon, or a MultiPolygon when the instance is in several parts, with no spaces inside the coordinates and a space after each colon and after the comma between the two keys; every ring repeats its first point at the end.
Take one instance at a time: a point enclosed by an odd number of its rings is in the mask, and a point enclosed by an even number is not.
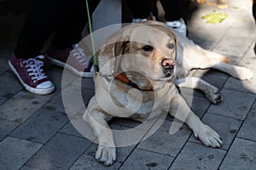
{"type": "Polygon", "coordinates": [[[35,156],[26,162],[26,165],[41,169],[68,169],[89,145],[89,140],[57,133],[35,156]]]}

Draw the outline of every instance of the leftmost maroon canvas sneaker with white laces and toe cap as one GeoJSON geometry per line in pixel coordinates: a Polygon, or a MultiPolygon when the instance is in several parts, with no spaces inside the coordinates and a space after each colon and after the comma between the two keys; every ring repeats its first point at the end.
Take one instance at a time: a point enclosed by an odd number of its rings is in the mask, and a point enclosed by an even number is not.
{"type": "Polygon", "coordinates": [[[19,78],[22,86],[32,94],[50,94],[55,86],[49,81],[43,70],[44,55],[31,59],[17,59],[15,54],[9,59],[9,67],[19,78]]]}

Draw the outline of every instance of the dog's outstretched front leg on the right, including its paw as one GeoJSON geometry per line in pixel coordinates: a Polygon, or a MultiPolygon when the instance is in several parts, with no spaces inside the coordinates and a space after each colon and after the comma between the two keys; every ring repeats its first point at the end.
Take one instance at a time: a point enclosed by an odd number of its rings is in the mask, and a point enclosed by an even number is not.
{"type": "Polygon", "coordinates": [[[212,148],[221,146],[222,140],[218,133],[201,122],[200,118],[190,110],[189,105],[180,94],[176,94],[172,98],[169,112],[178,120],[185,122],[193,130],[195,137],[201,139],[203,144],[212,148]]]}

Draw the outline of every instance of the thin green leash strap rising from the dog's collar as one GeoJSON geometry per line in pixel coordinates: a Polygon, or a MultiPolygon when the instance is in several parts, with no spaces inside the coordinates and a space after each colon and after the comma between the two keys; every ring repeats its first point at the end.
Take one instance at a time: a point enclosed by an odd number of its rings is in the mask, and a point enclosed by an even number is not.
{"type": "Polygon", "coordinates": [[[92,35],[92,27],[91,27],[91,22],[90,22],[90,11],[89,11],[88,1],[85,0],[85,3],[86,3],[87,16],[88,16],[88,26],[89,26],[89,31],[90,31],[90,42],[91,42],[91,48],[92,48],[92,53],[93,53],[93,65],[94,65],[94,70],[96,72],[98,72],[99,66],[98,66],[97,59],[96,59],[96,50],[95,50],[94,38],[92,35]]]}

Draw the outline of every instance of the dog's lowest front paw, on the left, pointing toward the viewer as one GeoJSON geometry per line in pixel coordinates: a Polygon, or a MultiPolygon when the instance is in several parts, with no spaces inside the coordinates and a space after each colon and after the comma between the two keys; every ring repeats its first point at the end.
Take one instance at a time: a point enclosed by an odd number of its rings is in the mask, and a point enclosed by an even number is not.
{"type": "Polygon", "coordinates": [[[98,150],[96,151],[96,160],[101,161],[104,165],[112,165],[113,161],[116,160],[116,149],[115,147],[104,146],[99,144],[98,150]]]}

